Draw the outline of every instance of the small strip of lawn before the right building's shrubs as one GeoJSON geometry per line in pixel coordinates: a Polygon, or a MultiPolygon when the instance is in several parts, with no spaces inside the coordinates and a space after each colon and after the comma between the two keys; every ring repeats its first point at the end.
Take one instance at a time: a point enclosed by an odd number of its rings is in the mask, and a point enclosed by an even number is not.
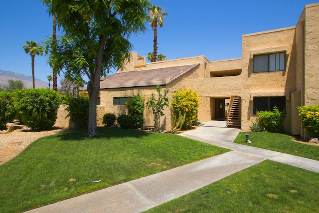
{"type": "Polygon", "coordinates": [[[246,132],[238,134],[234,143],[273,150],[291,155],[301,156],[319,161],[319,146],[312,146],[292,141],[294,137],[270,132],[249,132],[248,144],[245,138],[246,132]]]}

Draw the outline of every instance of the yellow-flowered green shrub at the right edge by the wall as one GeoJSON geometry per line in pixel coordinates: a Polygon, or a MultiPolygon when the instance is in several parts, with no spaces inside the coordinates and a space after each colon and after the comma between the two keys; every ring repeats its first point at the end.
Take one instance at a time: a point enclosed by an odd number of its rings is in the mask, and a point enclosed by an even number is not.
{"type": "Polygon", "coordinates": [[[311,137],[319,138],[319,105],[298,107],[303,128],[311,137]]]}

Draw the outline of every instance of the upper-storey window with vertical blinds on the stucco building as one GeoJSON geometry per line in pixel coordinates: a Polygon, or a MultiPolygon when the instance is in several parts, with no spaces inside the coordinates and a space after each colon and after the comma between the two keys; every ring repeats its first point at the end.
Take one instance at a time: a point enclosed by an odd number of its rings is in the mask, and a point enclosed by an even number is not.
{"type": "Polygon", "coordinates": [[[273,72],[286,70],[286,53],[254,55],[254,72],[273,72]]]}

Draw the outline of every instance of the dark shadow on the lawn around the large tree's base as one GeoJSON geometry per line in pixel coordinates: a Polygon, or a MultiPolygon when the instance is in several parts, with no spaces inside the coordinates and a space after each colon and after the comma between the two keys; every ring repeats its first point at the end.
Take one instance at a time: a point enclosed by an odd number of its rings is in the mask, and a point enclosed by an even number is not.
{"type": "Polygon", "coordinates": [[[121,128],[111,128],[111,127],[98,127],[99,135],[90,138],[88,136],[88,129],[80,129],[71,132],[64,132],[61,134],[56,134],[52,137],[60,138],[61,140],[96,140],[96,139],[111,139],[111,138],[127,138],[127,137],[134,137],[134,138],[143,138],[150,134],[150,132],[139,131],[139,130],[132,130],[132,129],[121,129],[121,128]]]}

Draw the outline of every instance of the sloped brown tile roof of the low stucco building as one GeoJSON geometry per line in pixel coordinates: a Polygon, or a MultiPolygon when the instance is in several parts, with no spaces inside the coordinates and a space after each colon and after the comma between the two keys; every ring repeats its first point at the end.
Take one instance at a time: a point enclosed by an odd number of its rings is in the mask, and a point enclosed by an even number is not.
{"type": "MultiPolygon", "coordinates": [[[[120,72],[100,81],[100,89],[168,85],[186,73],[197,69],[199,64],[120,72]]],[[[83,88],[86,89],[86,88],[83,88]]]]}

